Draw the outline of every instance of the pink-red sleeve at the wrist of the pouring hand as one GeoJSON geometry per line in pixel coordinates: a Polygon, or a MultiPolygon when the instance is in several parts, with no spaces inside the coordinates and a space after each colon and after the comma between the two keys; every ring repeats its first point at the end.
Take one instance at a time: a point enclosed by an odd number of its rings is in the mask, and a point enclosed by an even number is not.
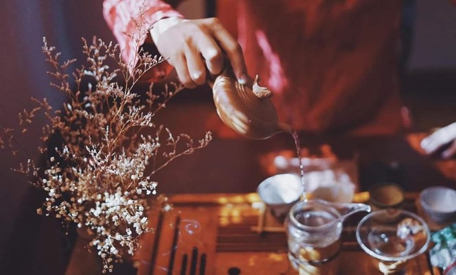
{"type": "Polygon", "coordinates": [[[122,50],[122,56],[125,62],[134,64],[134,60],[139,47],[146,41],[151,41],[149,35],[142,36],[139,44],[136,44],[132,37],[141,36],[137,28],[138,22],[153,25],[156,21],[165,17],[183,17],[182,14],[173,10],[171,5],[160,0],[104,0],[103,15],[106,23],[112,30],[119,46],[122,50]],[[143,14],[140,10],[144,5],[143,14]],[[127,36],[125,34],[130,34],[127,36]]]}

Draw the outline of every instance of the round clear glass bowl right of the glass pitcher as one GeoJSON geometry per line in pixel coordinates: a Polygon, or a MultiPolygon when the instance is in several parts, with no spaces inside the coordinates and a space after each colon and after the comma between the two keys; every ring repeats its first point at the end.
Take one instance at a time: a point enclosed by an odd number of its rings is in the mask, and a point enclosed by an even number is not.
{"type": "Polygon", "coordinates": [[[400,209],[374,211],[357,226],[357,241],[383,274],[399,274],[425,252],[431,233],[421,217],[400,209]]]}

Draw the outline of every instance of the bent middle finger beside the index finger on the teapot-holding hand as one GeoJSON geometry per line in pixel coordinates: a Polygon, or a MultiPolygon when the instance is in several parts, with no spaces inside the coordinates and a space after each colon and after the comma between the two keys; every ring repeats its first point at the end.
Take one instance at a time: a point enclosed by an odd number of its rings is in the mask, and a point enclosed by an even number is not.
{"type": "Polygon", "coordinates": [[[215,40],[203,38],[198,40],[198,48],[206,62],[209,73],[218,75],[224,69],[224,56],[215,40]]]}

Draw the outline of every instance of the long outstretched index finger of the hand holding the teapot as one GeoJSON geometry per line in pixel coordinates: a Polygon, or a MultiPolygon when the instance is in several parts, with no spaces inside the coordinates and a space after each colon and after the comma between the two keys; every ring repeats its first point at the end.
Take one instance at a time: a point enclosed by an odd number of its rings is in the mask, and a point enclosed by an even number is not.
{"type": "Polygon", "coordinates": [[[241,84],[245,84],[247,82],[247,67],[245,66],[241,45],[237,43],[235,38],[231,36],[217,19],[213,19],[213,21],[213,34],[218,44],[226,52],[237,80],[241,84]]]}

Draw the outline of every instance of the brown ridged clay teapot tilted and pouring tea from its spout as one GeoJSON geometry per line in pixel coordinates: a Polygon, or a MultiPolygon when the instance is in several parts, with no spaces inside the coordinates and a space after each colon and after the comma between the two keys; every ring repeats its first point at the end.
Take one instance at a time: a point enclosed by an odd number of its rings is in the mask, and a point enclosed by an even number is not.
{"type": "Polygon", "coordinates": [[[209,83],[217,114],[228,127],[250,139],[267,139],[278,132],[291,132],[289,125],[278,121],[268,88],[259,86],[259,77],[239,84],[230,67],[209,83]]]}

